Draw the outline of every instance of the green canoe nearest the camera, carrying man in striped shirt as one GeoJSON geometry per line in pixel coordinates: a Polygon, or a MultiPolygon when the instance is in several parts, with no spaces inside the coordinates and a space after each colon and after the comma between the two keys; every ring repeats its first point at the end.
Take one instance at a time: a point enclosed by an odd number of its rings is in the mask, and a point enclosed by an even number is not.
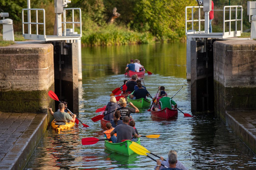
{"type": "MultiPolygon", "coordinates": [[[[138,144],[141,144],[141,139],[138,138],[138,141],[136,142],[138,144]]],[[[134,152],[129,148],[129,146],[132,144],[132,141],[126,140],[121,143],[111,143],[109,141],[105,140],[105,148],[112,151],[117,152],[123,155],[131,155],[134,152]]]]}

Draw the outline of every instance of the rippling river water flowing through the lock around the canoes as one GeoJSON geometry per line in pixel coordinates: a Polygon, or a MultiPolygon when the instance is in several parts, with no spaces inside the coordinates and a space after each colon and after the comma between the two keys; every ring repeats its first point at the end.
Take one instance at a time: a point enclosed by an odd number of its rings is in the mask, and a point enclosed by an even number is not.
{"type": "MultiPolygon", "coordinates": [[[[80,120],[89,125],[74,126],[57,134],[51,128],[44,134],[25,169],[153,169],[155,162],[145,156],[124,156],[104,149],[104,142],[83,146],[86,137],[103,138],[100,121],[92,122],[97,108],[110,99],[111,91],[122,85],[124,68],[130,59],[139,59],[153,75],[144,76],[153,95],[159,85],[178,107],[190,113],[190,85],[186,81],[186,45],[148,44],[82,49],[83,81],[79,85],[80,120]]],[[[151,117],[148,108],[131,114],[142,135],[160,134],[158,139],[141,138],[141,145],[167,158],[174,149],[189,169],[256,169],[256,156],[223,121],[208,115],[167,121],[151,117]]]]}

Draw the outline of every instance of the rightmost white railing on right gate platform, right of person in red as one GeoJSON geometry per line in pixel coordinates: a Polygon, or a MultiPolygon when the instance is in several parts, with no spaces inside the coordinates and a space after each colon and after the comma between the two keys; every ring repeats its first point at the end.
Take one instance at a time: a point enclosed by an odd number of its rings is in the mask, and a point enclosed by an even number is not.
{"type": "Polygon", "coordinates": [[[243,7],[241,5],[231,5],[223,7],[223,35],[225,33],[225,22],[229,22],[229,35],[231,34],[231,21],[236,21],[236,33],[237,33],[237,21],[241,21],[241,33],[243,32],[243,7]],[[237,19],[237,7],[240,7],[239,11],[241,11],[241,19],[237,19]],[[225,20],[225,11],[226,8],[229,8],[229,19],[225,20]],[[236,19],[231,19],[231,8],[236,8],[236,19]]]}

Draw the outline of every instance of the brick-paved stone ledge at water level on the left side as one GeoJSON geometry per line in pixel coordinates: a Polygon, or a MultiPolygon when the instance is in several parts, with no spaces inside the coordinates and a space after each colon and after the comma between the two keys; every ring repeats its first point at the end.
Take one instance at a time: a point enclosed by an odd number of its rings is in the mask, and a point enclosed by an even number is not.
{"type": "MultiPolygon", "coordinates": [[[[20,126],[15,130],[13,130],[13,128],[12,134],[21,133],[21,135],[17,137],[16,141],[9,143],[9,151],[6,150],[8,148],[5,149],[4,147],[0,147],[1,153],[7,152],[2,160],[0,160],[0,169],[23,169],[47,129],[48,114],[29,113],[26,116],[25,115],[26,114],[24,113],[19,115],[14,113],[11,114],[9,118],[3,120],[3,122],[8,122],[6,124],[2,124],[3,126],[8,126],[9,123],[12,123],[12,125],[5,130],[6,132],[1,134],[1,138],[4,135],[8,135],[8,129],[18,125],[18,122],[21,122],[20,126]],[[26,130],[20,132],[22,128],[26,128],[26,130]],[[13,146],[10,146],[12,144],[13,146]]],[[[11,138],[12,134],[9,134],[11,138]]],[[[3,142],[3,146],[4,145],[5,142],[3,142]]]]}

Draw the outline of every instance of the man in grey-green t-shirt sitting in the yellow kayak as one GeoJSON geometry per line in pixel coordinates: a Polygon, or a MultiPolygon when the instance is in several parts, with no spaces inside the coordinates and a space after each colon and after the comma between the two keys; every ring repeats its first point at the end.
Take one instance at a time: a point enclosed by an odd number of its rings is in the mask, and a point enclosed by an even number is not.
{"type": "Polygon", "coordinates": [[[72,116],[70,116],[70,114],[68,114],[64,111],[65,110],[64,103],[59,104],[60,111],[58,111],[58,112],[54,113],[51,108],[48,108],[48,109],[51,112],[51,115],[54,116],[56,122],[69,122],[69,121],[75,122],[75,120],[76,120],[77,115],[74,114],[72,117],[72,116]]]}

